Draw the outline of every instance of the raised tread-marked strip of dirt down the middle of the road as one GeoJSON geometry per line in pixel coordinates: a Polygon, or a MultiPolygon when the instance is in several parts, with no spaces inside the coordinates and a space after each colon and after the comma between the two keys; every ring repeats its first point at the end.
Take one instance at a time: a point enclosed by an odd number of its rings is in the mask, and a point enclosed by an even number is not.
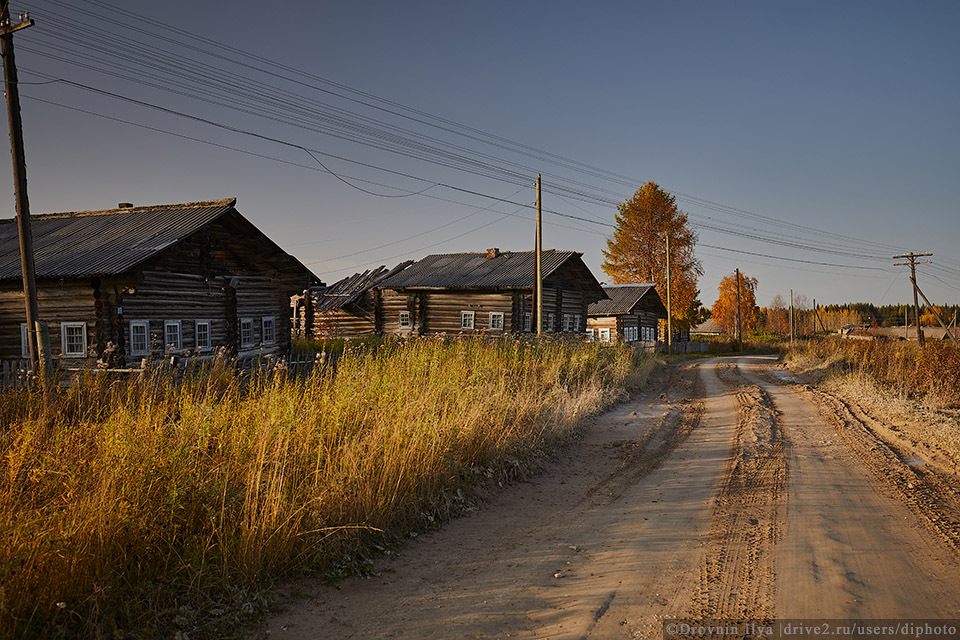
{"type": "Polygon", "coordinates": [[[734,389],[737,425],[716,499],[691,617],[774,616],[774,546],[781,536],[787,467],[779,414],[769,395],[735,364],[717,368],[734,389]]]}

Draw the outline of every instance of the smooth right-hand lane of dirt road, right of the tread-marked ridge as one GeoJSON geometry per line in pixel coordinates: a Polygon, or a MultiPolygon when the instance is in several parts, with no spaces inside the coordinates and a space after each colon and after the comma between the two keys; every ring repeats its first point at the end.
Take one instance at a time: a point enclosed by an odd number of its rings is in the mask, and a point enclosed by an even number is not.
{"type": "MultiPolygon", "coordinates": [[[[772,369],[774,358],[745,356],[738,362],[743,376],[761,386],[782,412],[788,444],[790,482],[775,550],[777,617],[960,614],[960,556],[931,535],[909,500],[890,484],[898,471],[912,473],[900,459],[903,451],[894,446],[895,455],[883,455],[882,443],[868,437],[865,425],[838,422],[840,406],[826,407],[808,387],[775,375],[780,372],[772,369]]],[[[870,429],[883,433],[880,423],[870,429]]]]}

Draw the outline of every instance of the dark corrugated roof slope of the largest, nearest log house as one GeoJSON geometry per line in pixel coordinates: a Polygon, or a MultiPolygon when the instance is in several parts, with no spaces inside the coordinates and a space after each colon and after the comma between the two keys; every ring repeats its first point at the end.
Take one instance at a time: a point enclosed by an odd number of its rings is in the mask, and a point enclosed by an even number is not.
{"type": "MultiPolygon", "coordinates": [[[[234,208],[236,198],[30,216],[38,278],[123,273],[234,208]]],[[[19,279],[16,220],[0,220],[0,280],[19,279]]]]}

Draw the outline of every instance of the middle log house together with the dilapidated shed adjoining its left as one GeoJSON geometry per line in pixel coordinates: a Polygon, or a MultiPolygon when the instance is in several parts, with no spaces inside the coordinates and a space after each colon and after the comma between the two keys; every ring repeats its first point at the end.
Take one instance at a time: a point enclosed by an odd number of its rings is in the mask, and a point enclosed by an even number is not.
{"type": "MultiPolygon", "coordinates": [[[[603,288],[575,251],[542,252],[547,333],[580,334],[603,288]]],[[[430,255],[312,292],[313,335],[428,335],[533,331],[532,251],[430,255]]]]}

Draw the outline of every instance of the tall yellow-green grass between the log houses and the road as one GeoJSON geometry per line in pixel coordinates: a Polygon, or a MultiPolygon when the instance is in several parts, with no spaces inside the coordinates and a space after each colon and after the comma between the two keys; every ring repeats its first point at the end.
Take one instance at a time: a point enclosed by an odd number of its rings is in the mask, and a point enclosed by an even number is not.
{"type": "Polygon", "coordinates": [[[217,363],[8,393],[0,635],[223,637],[271,580],[349,569],[451,514],[478,472],[522,467],[651,367],[589,344],[418,340],[348,347],[307,378],[217,363]]]}

